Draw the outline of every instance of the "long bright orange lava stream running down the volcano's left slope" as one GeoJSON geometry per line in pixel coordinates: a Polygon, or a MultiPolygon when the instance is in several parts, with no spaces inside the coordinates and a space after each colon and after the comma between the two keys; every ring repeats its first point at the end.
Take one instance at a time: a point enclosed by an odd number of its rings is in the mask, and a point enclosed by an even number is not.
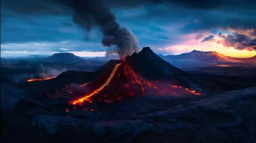
{"type": "Polygon", "coordinates": [[[107,85],[109,85],[111,79],[113,78],[113,76],[115,75],[117,68],[119,67],[120,64],[116,64],[115,68],[113,69],[113,71],[111,72],[109,78],[107,79],[107,81],[105,83],[102,84],[102,86],[96,90],[94,90],[93,93],[89,94],[89,95],[85,95],[82,98],[79,98],[75,101],[72,102],[73,105],[77,104],[77,103],[83,103],[84,101],[91,101],[89,98],[94,95],[99,93],[104,87],[106,87],[107,85]]]}

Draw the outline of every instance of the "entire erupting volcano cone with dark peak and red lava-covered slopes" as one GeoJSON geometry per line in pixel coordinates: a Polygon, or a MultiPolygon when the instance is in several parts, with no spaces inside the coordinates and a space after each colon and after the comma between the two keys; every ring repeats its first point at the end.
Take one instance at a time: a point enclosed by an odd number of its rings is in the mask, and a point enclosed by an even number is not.
{"type": "Polygon", "coordinates": [[[111,103],[135,95],[201,95],[192,90],[198,87],[188,73],[164,61],[149,47],[108,67],[89,83],[80,85],[83,95],[76,94],[70,103],[111,103]]]}

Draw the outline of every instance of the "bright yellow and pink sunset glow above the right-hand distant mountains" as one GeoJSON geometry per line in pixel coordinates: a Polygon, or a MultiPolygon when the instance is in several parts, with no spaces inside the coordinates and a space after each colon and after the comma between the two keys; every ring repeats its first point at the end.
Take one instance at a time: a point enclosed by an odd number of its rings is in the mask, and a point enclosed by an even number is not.
{"type": "MultiPolygon", "coordinates": [[[[234,30],[233,30],[234,31],[234,30]]],[[[254,32],[254,30],[250,31],[239,31],[241,33],[247,33],[250,35],[250,32],[254,32]]],[[[227,35],[227,34],[226,34],[227,35]]],[[[170,45],[164,48],[157,48],[157,52],[163,53],[165,55],[179,55],[182,53],[189,53],[193,50],[198,51],[215,51],[219,54],[223,54],[225,56],[231,56],[231,57],[239,57],[239,58],[247,58],[247,57],[253,57],[256,56],[256,50],[253,48],[245,48],[245,49],[236,49],[232,46],[224,46],[222,43],[222,38],[218,36],[218,34],[210,34],[210,33],[203,33],[201,34],[202,38],[198,38],[198,34],[188,34],[181,39],[184,40],[181,44],[177,45],[170,45]],[[204,37],[207,35],[212,35],[214,38],[211,40],[202,42],[204,40],[204,37]]],[[[255,37],[251,37],[252,39],[255,37]]]]}

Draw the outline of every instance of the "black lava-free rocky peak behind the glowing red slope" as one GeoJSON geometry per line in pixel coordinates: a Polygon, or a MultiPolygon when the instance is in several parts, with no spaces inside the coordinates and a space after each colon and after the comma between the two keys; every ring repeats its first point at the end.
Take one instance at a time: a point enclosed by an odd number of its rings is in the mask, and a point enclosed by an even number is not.
{"type": "Polygon", "coordinates": [[[143,48],[138,54],[128,56],[126,61],[138,74],[146,79],[171,82],[184,87],[192,86],[189,83],[192,78],[187,72],[164,61],[149,47],[143,48]]]}

